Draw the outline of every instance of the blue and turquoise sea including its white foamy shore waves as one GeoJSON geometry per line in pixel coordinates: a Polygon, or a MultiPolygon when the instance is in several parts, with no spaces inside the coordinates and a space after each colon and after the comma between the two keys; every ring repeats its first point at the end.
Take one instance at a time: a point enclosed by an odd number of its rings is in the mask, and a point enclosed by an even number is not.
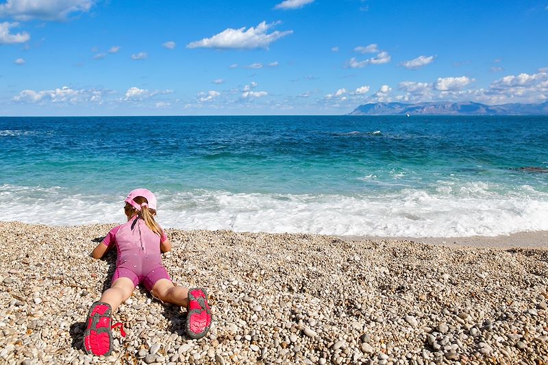
{"type": "Polygon", "coordinates": [[[548,229],[548,118],[0,118],[0,221],[495,236],[548,229]]]}

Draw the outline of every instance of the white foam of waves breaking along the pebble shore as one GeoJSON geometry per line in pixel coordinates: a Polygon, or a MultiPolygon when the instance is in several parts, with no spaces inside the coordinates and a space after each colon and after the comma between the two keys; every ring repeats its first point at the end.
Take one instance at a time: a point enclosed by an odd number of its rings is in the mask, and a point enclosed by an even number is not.
{"type": "MultiPolygon", "coordinates": [[[[548,230],[548,196],[532,188],[499,195],[469,183],[382,196],[157,193],[158,220],[180,229],[232,229],[361,236],[498,236],[548,230]]],[[[73,194],[67,188],[0,186],[0,221],[49,225],[122,222],[123,194],[73,194]]]]}

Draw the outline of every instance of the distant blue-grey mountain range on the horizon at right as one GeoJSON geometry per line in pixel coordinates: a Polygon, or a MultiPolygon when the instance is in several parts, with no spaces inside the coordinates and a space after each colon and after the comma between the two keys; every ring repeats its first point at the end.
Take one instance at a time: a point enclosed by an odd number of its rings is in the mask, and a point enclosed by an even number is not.
{"type": "Polygon", "coordinates": [[[541,104],[486,105],[451,103],[371,103],[358,106],[349,115],[548,115],[548,101],[541,104]]]}

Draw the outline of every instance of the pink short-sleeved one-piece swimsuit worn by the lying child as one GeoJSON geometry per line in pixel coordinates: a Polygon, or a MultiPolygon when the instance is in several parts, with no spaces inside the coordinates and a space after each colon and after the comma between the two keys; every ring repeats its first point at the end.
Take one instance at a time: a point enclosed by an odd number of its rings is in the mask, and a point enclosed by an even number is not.
{"type": "Polygon", "coordinates": [[[140,218],[132,218],[112,228],[103,240],[107,247],[116,244],[118,251],[112,282],[119,277],[127,277],[133,281],[134,286],[143,283],[150,291],[156,281],[171,280],[162,264],[160,253],[160,242],[165,240],[167,236],[164,231],[162,237],[158,237],[140,218]]]}

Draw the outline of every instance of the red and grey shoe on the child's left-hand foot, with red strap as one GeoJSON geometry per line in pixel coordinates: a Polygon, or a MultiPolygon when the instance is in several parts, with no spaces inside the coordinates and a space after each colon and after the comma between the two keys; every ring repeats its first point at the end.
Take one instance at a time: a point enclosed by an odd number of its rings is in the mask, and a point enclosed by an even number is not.
{"type": "Polygon", "coordinates": [[[125,337],[122,323],[111,325],[112,307],[110,304],[96,301],[91,305],[86,319],[84,332],[84,349],[89,355],[108,356],[112,353],[112,331],[120,327],[120,333],[125,337]]]}

